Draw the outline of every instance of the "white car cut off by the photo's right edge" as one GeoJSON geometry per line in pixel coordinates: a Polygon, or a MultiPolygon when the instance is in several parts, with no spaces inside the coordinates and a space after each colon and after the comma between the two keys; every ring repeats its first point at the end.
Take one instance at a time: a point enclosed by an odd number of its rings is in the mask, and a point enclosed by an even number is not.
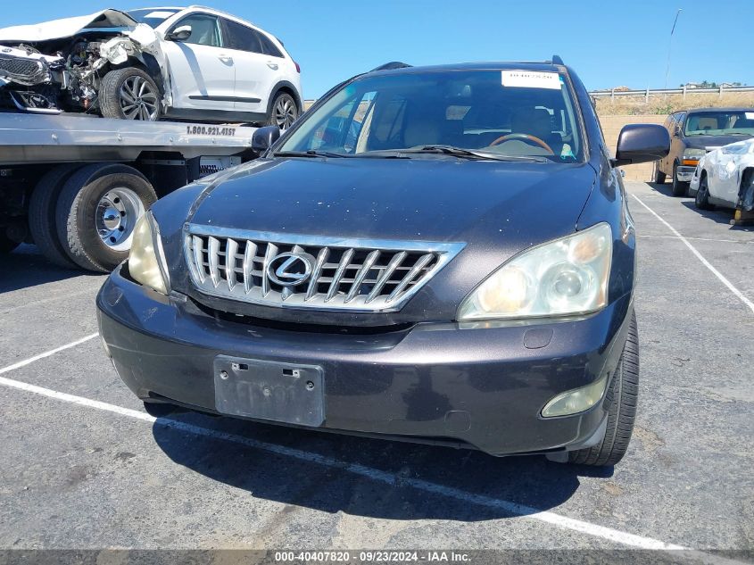
{"type": "MultiPolygon", "coordinates": [[[[754,112],[751,128],[754,133],[754,112]]],[[[754,138],[719,147],[701,158],[690,195],[700,210],[714,206],[754,211],[754,138]]]]}

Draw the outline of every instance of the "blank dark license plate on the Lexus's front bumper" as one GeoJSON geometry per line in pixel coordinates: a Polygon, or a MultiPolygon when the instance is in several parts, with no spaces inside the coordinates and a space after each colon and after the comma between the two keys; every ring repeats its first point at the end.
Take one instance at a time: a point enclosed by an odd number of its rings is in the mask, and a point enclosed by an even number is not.
{"type": "Polygon", "coordinates": [[[214,379],[220,413],[312,427],[325,421],[321,367],[219,355],[214,379]]]}

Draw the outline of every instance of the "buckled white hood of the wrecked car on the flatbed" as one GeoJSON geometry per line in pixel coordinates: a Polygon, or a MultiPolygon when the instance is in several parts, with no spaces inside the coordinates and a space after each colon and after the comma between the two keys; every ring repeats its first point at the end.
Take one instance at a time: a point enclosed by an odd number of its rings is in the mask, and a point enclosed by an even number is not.
{"type": "Polygon", "coordinates": [[[24,41],[35,43],[61,39],[79,34],[83,29],[132,28],[137,21],[120,10],[100,10],[86,16],[62,18],[25,26],[12,26],[0,29],[0,43],[24,41]]]}

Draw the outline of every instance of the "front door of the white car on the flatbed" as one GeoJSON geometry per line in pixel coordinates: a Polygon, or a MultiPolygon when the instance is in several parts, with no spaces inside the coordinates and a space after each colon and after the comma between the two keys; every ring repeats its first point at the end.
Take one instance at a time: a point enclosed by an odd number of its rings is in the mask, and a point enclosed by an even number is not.
{"type": "Polygon", "coordinates": [[[164,50],[170,66],[173,106],[195,110],[233,110],[236,61],[223,46],[220,18],[195,12],[168,29],[164,50]],[[167,40],[171,31],[191,26],[183,41],[167,40]]]}

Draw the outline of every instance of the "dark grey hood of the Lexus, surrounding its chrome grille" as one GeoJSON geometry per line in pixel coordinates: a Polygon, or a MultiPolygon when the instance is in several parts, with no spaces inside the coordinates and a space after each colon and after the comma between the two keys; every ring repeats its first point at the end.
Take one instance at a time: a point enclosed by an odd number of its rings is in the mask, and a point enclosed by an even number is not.
{"type": "Polygon", "coordinates": [[[168,195],[153,213],[171,286],[198,303],[256,319],[387,326],[454,320],[463,297],[511,256],[574,233],[595,180],[587,163],[261,159],[168,195]],[[400,312],[277,308],[198,292],[181,259],[186,217],[204,226],[312,237],[313,244],[327,236],[459,243],[463,249],[400,312]]]}

